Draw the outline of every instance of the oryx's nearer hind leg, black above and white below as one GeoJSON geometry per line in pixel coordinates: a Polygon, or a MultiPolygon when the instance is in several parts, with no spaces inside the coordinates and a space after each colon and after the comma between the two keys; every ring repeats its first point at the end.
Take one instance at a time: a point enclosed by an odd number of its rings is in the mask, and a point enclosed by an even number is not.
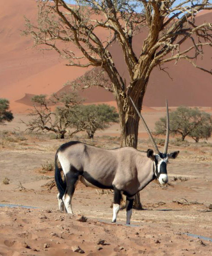
{"type": "Polygon", "coordinates": [[[63,202],[67,209],[67,213],[73,214],[73,211],[71,208],[71,199],[73,197],[73,194],[75,193],[75,187],[77,185],[77,182],[79,181],[79,173],[70,171],[65,174],[65,177],[66,177],[67,189],[63,196],[63,202]]]}

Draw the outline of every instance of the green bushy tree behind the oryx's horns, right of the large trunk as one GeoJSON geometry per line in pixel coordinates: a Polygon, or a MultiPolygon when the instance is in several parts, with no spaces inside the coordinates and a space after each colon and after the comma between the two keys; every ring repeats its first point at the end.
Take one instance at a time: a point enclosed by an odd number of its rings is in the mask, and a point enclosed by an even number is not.
{"type": "MultiPolygon", "coordinates": [[[[211,117],[209,114],[200,111],[198,108],[180,106],[176,111],[169,114],[170,132],[180,134],[182,141],[186,136],[192,137],[196,142],[200,138],[210,137],[211,117]],[[207,128],[206,128],[207,127],[207,128]]],[[[156,134],[165,134],[166,118],[163,117],[155,123],[156,134]]]]}

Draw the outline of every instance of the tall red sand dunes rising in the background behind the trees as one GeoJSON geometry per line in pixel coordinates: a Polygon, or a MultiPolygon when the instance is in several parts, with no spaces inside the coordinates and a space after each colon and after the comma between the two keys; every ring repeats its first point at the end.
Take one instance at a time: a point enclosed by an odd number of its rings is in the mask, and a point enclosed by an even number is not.
{"type": "MultiPolygon", "coordinates": [[[[24,15],[35,21],[37,7],[35,0],[8,0],[0,9],[0,97],[8,98],[14,113],[24,112],[29,103],[26,95],[47,94],[60,91],[63,84],[77,79],[89,69],[65,66],[66,61],[59,59],[54,51],[43,52],[32,48],[30,37],[21,36],[24,30],[24,15]]],[[[212,21],[212,12],[201,12],[196,21],[212,21]]],[[[103,38],[103,34],[98,32],[103,38]]],[[[133,38],[133,48],[139,52],[146,32],[133,38]]],[[[187,43],[189,45],[189,42],[187,43]]],[[[110,47],[115,64],[127,78],[126,67],[118,43],[110,47]]],[[[203,60],[198,60],[204,67],[211,67],[211,48],[205,49],[203,60]]],[[[169,106],[212,106],[212,76],[197,70],[191,64],[181,61],[175,66],[168,63],[168,75],[155,68],[149,79],[144,105],[164,106],[165,98],[169,106]]],[[[102,88],[91,88],[80,93],[87,98],[87,103],[111,102],[114,97],[102,88]]]]}

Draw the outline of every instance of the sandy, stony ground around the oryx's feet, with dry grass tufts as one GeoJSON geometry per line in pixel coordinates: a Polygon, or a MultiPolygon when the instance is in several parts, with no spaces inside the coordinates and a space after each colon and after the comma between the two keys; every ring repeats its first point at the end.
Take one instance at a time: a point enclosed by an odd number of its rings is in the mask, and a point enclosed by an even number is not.
{"type": "MultiPolygon", "coordinates": [[[[150,113],[149,120],[156,113],[161,112],[150,113]]],[[[168,165],[169,185],[153,181],[143,189],[144,210],[133,209],[131,225],[126,226],[125,210],[119,212],[117,224],[111,223],[111,191],[102,194],[81,183],[72,200],[75,215],[59,212],[57,189],[50,189],[54,171],[43,172],[41,167],[53,163],[63,142],[6,128],[9,125],[0,127],[0,204],[26,208],[0,207],[0,255],[74,256],[82,251],[89,256],[212,255],[212,242],[207,240],[212,239],[211,144],[176,146],[171,139],[169,151],[180,154],[168,165]],[[5,177],[8,185],[2,183],[5,177]],[[82,215],[86,222],[79,221],[82,215]]],[[[95,146],[118,147],[117,137],[106,136],[116,129],[109,129],[96,136],[95,146]]],[[[77,139],[91,143],[83,134],[77,139]]],[[[138,149],[149,147],[146,139],[139,139],[138,149]]]]}

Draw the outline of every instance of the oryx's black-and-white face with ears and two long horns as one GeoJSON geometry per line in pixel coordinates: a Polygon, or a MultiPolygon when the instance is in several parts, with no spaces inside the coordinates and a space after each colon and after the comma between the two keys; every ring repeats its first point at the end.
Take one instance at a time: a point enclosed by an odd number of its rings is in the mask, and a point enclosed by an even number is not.
{"type": "MultiPolygon", "coordinates": [[[[131,99],[131,98],[130,98],[131,99]]],[[[161,153],[156,145],[155,140],[153,139],[153,135],[151,134],[148,126],[145,123],[144,118],[141,116],[140,112],[137,110],[137,107],[135,106],[133,100],[131,99],[133,106],[135,107],[137,114],[141,118],[141,121],[143,122],[145,129],[149,135],[149,138],[153,144],[153,148],[155,151],[155,154],[153,153],[153,150],[147,150],[147,157],[150,158],[153,161],[154,164],[154,174],[157,177],[158,181],[161,185],[165,185],[168,182],[168,175],[166,166],[168,163],[168,160],[170,158],[175,159],[177,158],[180,151],[175,151],[173,153],[168,154],[168,145],[169,145],[169,109],[168,109],[168,103],[166,100],[166,139],[165,139],[165,145],[164,145],[164,152],[161,153]]]]}

